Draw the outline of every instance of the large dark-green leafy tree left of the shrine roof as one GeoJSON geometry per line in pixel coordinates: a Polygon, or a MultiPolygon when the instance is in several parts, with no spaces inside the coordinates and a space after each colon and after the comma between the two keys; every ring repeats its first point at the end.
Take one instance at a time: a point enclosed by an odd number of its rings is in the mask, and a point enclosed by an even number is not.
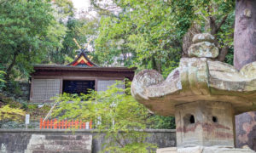
{"type": "Polygon", "coordinates": [[[51,3],[44,0],[0,0],[0,64],[7,82],[14,70],[29,76],[32,64],[60,45],[62,26],[53,13],[51,3]]]}

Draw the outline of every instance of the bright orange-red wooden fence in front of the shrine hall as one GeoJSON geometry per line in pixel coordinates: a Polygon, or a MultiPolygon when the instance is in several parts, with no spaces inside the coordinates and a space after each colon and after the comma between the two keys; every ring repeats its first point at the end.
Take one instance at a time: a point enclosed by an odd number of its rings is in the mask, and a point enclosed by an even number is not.
{"type": "Polygon", "coordinates": [[[40,119],[40,129],[42,128],[53,128],[53,129],[68,129],[68,128],[76,128],[76,129],[92,129],[92,121],[90,122],[82,122],[79,120],[76,121],[67,121],[57,119],[54,120],[45,120],[43,118],[40,119]]]}

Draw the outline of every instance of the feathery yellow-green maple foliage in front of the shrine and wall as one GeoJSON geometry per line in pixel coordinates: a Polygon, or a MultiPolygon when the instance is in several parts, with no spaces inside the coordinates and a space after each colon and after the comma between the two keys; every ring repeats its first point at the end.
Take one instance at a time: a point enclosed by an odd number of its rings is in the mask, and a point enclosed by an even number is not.
{"type": "Polygon", "coordinates": [[[110,139],[104,151],[148,152],[154,148],[154,144],[145,142],[148,134],[143,131],[148,124],[148,111],[124,93],[130,93],[130,88],[124,90],[114,84],[103,92],[90,91],[81,96],[63,94],[56,99],[59,105],[54,114],[61,114],[61,119],[93,121],[96,130],[106,133],[106,139],[110,139]]]}

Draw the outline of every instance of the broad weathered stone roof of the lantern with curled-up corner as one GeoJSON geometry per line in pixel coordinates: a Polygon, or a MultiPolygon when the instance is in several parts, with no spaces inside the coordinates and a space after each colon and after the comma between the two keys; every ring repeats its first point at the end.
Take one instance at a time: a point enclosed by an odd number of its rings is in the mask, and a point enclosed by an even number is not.
{"type": "Polygon", "coordinates": [[[194,101],[230,102],[235,114],[256,111],[256,62],[241,71],[206,58],[183,58],[164,80],[157,71],[137,73],[131,94],[149,110],[173,116],[175,105],[194,101]]]}

